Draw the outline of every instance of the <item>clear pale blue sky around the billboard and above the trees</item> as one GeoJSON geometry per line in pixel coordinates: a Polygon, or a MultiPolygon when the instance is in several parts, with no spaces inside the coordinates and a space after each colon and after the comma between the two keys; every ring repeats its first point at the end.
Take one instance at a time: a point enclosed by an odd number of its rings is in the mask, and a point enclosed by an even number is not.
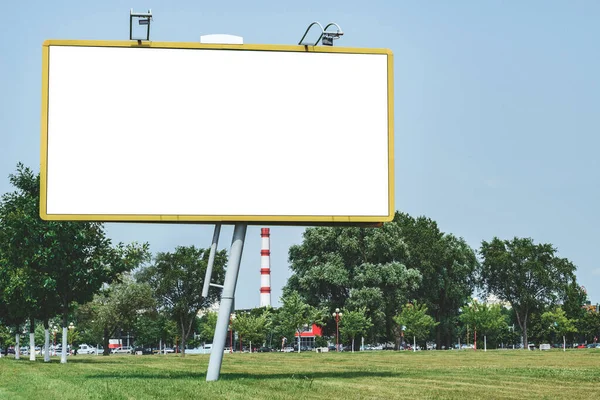
{"type": "MultiPolygon", "coordinates": [[[[245,43],[295,44],[318,20],[343,28],[338,46],[390,48],[396,208],[435,219],[474,248],[493,236],[552,243],[600,302],[600,2],[6,1],[0,193],[11,190],[6,177],[18,161],[39,170],[42,42],[127,40],[131,7],[152,9],[151,39],[159,41],[230,33],[245,43]]],[[[248,230],[238,308],[259,304],[259,228],[248,230]]],[[[115,241],[148,241],[154,252],[207,247],[212,237],[208,225],[107,230],[115,241]]],[[[274,301],[289,276],[287,249],[302,232],[272,228],[274,301]]],[[[231,233],[223,229],[221,248],[231,233]]]]}

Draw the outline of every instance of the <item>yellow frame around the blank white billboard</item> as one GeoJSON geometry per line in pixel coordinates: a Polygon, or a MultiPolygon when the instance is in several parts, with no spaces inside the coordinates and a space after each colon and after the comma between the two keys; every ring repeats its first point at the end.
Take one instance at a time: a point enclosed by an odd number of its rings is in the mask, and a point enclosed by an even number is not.
{"type": "Polygon", "coordinates": [[[48,221],[98,221],[98,222],[185,222],[185,223],[235,223],[271,225],[330,225],[379,224],[393,220],[394,206],[394,61],[389,49],[350,48],[307,45],[257,45],[257,44],[204,44],[187,42],[134,42],[105,40],[46,40],[42,45],[42,105],[40,146],[40,217],[48,221]],[[301,53],[380,54],[387,56],[388,93],[388,215],[386,216],[323,216],[323,215],[142,215],[142,214],[48,214],[48,96],[50,46],[128,47],[155,49],[199,50],[253,50],[301,53]]]}

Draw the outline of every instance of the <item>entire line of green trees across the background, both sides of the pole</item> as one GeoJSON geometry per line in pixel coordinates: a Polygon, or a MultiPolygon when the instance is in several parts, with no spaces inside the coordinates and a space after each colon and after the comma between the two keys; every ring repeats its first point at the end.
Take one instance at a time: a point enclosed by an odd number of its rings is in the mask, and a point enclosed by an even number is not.
{"type": "MultiPolygon", "coordinates": [[[[42,221],[39,176],[23,165],[10,182],[15,191],[0,202],[0,324],[12,329],[16,342],[28,322],[34,343],[39,321],[48,349],[57,316],[63,362],[69,320],[81,340],[104,343],[106,354],[109,339],[121,331],[133,333],[138,344],[174,338],[183,349],[190,338],[212,339],[215,316],[197,318],[217,300],[217,293],[202,298],[198,290],[208,250],[178,247],[151,259],[147,244],[112,245],[101,224],[42,221]]],[[[254,343],[300,337],[312,323],[333,337],[336,309],[344,313],[342,337],[352,342],[359,335],[396,346],[405,336],[434,338],[441,349],[479,332],[492,342],[514,343],[514,324],[525,346],[530,330],[538,340],[549,331],[583,340],[600,333],[598,314],[582,307],[587,296],[575,266],[532,239],[494,238],[476,252],[429,218],[396,213],[380,229],[309,228],[289,260],[282,307],[238,312],[232,325],[242,337],[254,343]],[[475,291],[510,307],[473,301],[475,291]]],[[[219,252],[216,279],[226,262],[219,252]]]]}

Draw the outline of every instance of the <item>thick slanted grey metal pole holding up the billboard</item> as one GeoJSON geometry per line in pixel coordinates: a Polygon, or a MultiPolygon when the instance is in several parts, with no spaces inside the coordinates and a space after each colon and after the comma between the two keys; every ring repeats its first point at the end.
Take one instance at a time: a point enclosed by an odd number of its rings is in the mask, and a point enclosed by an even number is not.
{"type": "Polygon", "coordinates": [[[229,263],[227,272],[225,273],[225,283],[223,284],[221,304],[219,306],[219,316],[217,317],[213,347],[208,361],[208,371],[206,372],[207,382],[218,380],[221,373],[223,351],[225,349],[225,340],[227,338],[227,325],[229,324],[229,314],[233,305],[235,286],[240,271],[247,227],[247,224],[235,224],[233,230],[233,239],[231,241],[231,250],[229,252],[229,263]]]}

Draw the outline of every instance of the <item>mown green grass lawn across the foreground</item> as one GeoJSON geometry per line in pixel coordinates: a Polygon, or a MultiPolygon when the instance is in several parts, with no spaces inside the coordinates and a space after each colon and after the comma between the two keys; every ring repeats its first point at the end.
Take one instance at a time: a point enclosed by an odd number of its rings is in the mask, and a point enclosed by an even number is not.
{"type": "Polygon", "coordinates": [[[600,399],[600,350],[0,359],[0,399],[600,399]]]}

